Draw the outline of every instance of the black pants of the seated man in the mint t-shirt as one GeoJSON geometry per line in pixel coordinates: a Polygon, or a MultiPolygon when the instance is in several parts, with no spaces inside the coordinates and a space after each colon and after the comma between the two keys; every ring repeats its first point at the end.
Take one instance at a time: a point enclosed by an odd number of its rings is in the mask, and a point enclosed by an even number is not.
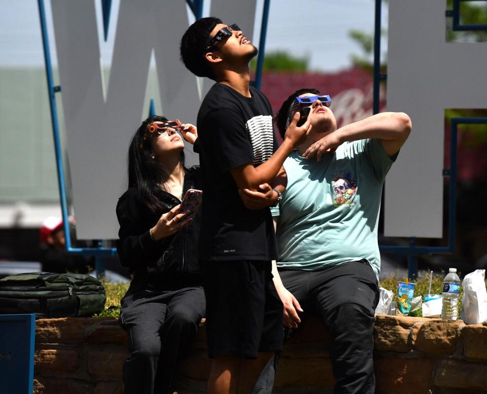
{"type": "MultiPolygon", "coordinates": [[[[322,271],[287,270],[280,275],[304,309],[301,321],[315,314],[330,330],[334,393],[373,394],[374,311],[379,290],[369,264],[353,261],[322,271]]],[[[270,394],[274,374],[275,363],[269,362],[253,393],[270,394]]]]}

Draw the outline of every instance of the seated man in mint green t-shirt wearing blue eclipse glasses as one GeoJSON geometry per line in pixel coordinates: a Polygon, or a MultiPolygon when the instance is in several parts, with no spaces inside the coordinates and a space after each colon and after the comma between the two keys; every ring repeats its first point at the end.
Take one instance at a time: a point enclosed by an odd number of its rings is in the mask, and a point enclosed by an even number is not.
{"type": "Polygon", "coordinates": [[[295,113],[308,108],[312,129],[283,166],[287,186],[273,209],[274,284],[286,326],[296,328],[306,311],[329,328],[334,392],[372,394],[380,198],[411,121],[404,113],[382,113],[337,129],[330,101],[301,89],[277,115],[284,136],[295,113]]]}

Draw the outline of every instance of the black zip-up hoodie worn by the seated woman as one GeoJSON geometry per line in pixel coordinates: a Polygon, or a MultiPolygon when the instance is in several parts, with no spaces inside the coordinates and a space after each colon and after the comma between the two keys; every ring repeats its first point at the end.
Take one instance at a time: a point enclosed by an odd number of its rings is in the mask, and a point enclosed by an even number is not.
{"type": "MultiPolygon", "coordinates": [[[[200,168],[186,169],[183,195],[188,189],[201,189],[200,168]]],[[[124,267],[129,267],[137,279],[154,283],[192,282],[200,280],[198,263],[198,235],[201,207],[191,225],[177,233],[155,241],[149,229],[155,226],[163,213],[181,201],[164,190],[158,196],[164,210],[152,212],[138,194],[137,188],[129,188],[118,200],[117,218],[120,224],[117,253],[124,267]]]]}

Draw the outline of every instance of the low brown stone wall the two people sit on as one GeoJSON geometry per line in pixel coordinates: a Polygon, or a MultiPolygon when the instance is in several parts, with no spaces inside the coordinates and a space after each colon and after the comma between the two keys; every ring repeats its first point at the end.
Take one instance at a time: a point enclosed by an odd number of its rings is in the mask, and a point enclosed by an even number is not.
{"type": "MultiPolygon", "coordinates": [[[[332,393],[328,341],[320,321],[306,321],[284,347],[274,393],[332,393]]],[[[377,394],[487,394],[487,326],[377,315],[374,341],[377,394]]],[[[37,320],[34,393],[121,393],[127,356],[113,318],[37,320]]],[[[179,394],[203,393],[210,365],[202,324],[178,366],[179,394]]]]}

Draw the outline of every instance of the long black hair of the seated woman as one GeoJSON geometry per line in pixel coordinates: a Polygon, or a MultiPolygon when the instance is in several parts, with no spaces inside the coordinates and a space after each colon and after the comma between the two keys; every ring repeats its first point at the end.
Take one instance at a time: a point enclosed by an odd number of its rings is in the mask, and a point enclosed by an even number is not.
{"type": "MultiPolygon", "coordinates": [[[[157,197],[162,188],[168,191],[165,183],[169,173],[153,159],[149,138],[144,139],[147,126],[153,122],[165,122],[163,116],[150,116],[142,122],[130,141],[128,148],[128,187],[136,187],[142,201],[153,212],[161,212],[164,208],[157,197]]],[[[184,168],[184,152],[180,153],[179,161],[184,168]]]]}

